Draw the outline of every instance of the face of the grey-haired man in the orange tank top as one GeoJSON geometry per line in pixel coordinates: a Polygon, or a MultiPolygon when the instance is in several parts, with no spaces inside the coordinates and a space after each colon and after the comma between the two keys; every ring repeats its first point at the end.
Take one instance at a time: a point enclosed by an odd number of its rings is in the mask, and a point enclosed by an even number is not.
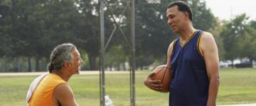
{"type": "Polygon", "coordinates": [[[81,57],[80,57],[80,53],[78,52],[78,49],[73,49],[71,54],[73,55],[73,60],[71,63],[71,67],[70,70],[73,73],[80,73],[80,65],[83,63],[81,57]]]}

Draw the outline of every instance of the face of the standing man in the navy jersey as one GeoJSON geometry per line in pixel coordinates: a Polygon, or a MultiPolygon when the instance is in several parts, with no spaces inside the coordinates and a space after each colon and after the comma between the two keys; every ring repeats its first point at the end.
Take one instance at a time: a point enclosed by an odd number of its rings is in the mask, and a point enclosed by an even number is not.
{"type": "Polygon", "coordinates": [[[186,15],[184,12],[178,11],[178,6],[172,6],[171,8],[167,8],[166,20],[173,33],[177,34],[181,31],[181,28],[184,27],[186,15]]]}

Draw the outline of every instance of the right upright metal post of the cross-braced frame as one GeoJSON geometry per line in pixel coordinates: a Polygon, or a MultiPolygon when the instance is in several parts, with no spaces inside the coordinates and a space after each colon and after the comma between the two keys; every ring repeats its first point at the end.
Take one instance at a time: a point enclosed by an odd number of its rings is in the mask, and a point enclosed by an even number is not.
{"type": "Polygon", "coordinates": [[[135,2],[132,2],[131,9],[131,31],[132,31],[132,106],[135,106],[135,2]]]}

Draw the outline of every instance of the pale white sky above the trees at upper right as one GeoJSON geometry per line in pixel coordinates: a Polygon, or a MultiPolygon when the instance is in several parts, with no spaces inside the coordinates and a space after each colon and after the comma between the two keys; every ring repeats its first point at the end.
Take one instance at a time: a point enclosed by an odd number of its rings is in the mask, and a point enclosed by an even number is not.
{"type": "Polygon", "coordinates": [[[256,20],[255,0],[205,0],[215,17],[229,20],[235,16],[246,13],[250,20],[256,20]]]}

